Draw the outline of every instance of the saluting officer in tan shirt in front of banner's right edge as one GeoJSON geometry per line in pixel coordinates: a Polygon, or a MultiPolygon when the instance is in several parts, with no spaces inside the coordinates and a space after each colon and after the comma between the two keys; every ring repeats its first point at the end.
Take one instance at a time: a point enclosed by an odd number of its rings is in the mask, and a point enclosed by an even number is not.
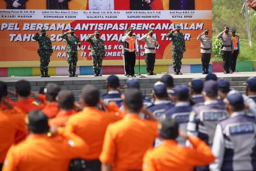
{"type": "Polygon", "coordinates": [[[203,74],[209,73],[210,55],[212,53],[212,41],[209,34],[209,29],[204,29],[203,33],[199,34],[197,40],[201,41],[201,61],[203,74]]]}

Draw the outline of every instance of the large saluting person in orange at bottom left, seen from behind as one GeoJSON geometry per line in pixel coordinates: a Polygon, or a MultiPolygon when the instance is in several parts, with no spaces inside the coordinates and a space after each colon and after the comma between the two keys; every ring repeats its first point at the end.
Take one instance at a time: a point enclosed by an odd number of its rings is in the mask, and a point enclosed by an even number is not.
{"type": "Polygon", "coordinates": [[[70,159],[89,150],[73,133],[55,129],[49,134],[48,118],[42,111],[30,112],[27,124],[30,135],[10,148],[2,171],[67,171],[70,159]]]}

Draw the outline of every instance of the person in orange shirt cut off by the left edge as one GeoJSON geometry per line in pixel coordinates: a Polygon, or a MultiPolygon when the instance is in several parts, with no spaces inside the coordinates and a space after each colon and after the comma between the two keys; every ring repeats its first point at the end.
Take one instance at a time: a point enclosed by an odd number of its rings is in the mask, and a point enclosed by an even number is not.
{"type": "MultiPolygon", "coordinates": [[[[5,98],[3,84],[0,84],[0,106],[8,108],[0,109],[0,171],[8,149],[17,143],[18,136],[26,135],[25,114],[11,104],[5,98]]],[[[24,138],[24,137],[23,137],[24,138]]]]}

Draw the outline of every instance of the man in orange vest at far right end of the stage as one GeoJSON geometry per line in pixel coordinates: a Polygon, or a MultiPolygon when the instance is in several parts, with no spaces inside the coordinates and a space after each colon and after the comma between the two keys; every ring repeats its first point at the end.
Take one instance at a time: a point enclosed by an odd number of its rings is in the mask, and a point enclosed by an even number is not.
{"type": "Polygon", "coordinates": [[[235,28],[232,28],[231,32],[232,32],[232,38],[233,38],[233,44],[234,44],[235,50],[232,54],[230,68],[233,70],[233,73],[237,73],[238,71],[235,70],[235,66],[236,66],[236,59],[238,57],[238,54],[240,53],[239,36],[235,34],[236,33],[235,28]]]}

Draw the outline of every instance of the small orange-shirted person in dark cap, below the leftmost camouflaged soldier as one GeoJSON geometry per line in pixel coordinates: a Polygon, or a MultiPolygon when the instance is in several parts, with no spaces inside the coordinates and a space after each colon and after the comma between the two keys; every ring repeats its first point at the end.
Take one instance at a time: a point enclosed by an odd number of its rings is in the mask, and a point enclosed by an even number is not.
{"type": "Polygon", "coordinates": [[[45,113],[48,118],[54,118],[59,112],[56,97],[60,92],[60,87],[55,83],[49,83],[46,85],[44,92],[46,93],[46,106],[42,109],[42,112],[45,113]]]}

